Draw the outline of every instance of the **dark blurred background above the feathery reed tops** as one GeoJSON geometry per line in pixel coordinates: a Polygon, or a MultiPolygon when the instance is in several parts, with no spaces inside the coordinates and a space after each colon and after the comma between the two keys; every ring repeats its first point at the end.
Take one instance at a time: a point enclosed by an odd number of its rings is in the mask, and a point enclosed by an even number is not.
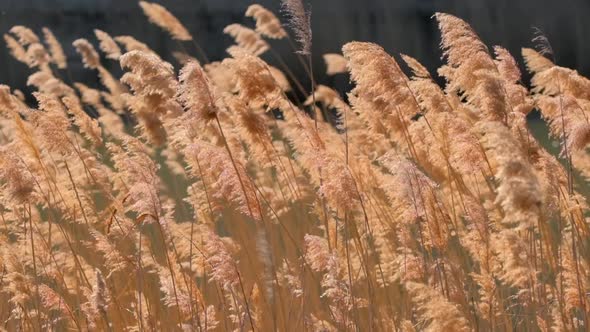
{"type": "MultiPolygon", "coordinates": [[[[191,31],[212,60],[226,56],[231,39],[222,32],[231,23],[253,27],[243,16],[252,3],[279,13],[279,0],[160,0],[191,31]]],[[[352,40],[372,41],[391,54],[406,53],[434,70],[440,64],[439,33],[432,14],[441,11],[469,22],[488,45],[508,48],[519,62],[521,47],[533,46],[532,27],[539,27],[549,38],[557,62],[562,66],[590,74],[590,1],[589,0],[311,0],[314,67],[320,82],[334,83],[323,75],[321,54],[339,52],[352,40]]],[[[172,51],[178,44],[166,33],[148,23],[135,0],[0,0],[0,31],[13,25],[26,25],[41,35],[43,26],[53,30],[69,58],[75,81],[96,83],[96,75],[82,68],[71,46],[77,38],[97,45],[93,29],[111,34],[132,35],[148,44],[166,60],[174,63],[172,51]]],[[[301,72],[286,42],[272,42],[295,71],[301,72]]],[[[5,46],[5,45],[4,45],[5,46]]],[[[189,51],[194,48],[187,46],[189,51]]],[[[267,58],[273,63],[272,58],[267,58]]],[[[0,83],[28,91],[30,71],[0,50],[0,83]]],[[[118,64],[105,62],[118,71],[118,64]]],[[[274,63],[273,63],[274,64],[274,63]]],[[[276,65],[276,64],[275,64],[276,65]]],[[[344,79],[346,81],[346,79],[344,79]]],[[[338,83],[337,84],[343,84],[338,83]]]]}

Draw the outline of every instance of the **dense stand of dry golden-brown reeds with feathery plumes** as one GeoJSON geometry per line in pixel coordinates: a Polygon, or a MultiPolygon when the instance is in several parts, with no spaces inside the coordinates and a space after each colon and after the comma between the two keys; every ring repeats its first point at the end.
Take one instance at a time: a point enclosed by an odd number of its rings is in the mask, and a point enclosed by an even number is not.
{"type": "Polygon", "coordinates": [[[49,29],[4,35],[37,91],[33,108],[0,86],[5,329],[589,328],[589,80],[523,49],[528,88],[505,49],[436,14],[444,87],[351,42],[324,56],[328,74],[350,73],[343,96],[310,79],[301,2],[284,6],[293,40],[252,5],[255,28],[228,26],[235,45],[215,62],[140,5],[178,41],[178,73],[96,30],[100,51],[74,42],[94,89],[64,78],[49,29]],[[290,43],[298,68],[266,39],[290,43]],[[535,108],[558,155],[527,127],[535,108]]]}

